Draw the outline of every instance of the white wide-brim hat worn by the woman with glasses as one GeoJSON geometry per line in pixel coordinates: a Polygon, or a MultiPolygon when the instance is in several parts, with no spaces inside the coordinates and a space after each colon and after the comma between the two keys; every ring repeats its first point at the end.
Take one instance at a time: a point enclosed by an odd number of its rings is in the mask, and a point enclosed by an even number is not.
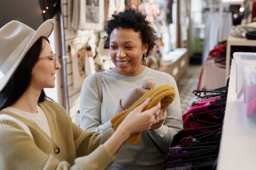
{"type": "Polygon", "coordinates": [[[53,19],[46,20],[35,31],[13,20],[0,28],[0,91],[18,68],[23,57],[41,36],[49,37],[54,30],[53,19]]]}

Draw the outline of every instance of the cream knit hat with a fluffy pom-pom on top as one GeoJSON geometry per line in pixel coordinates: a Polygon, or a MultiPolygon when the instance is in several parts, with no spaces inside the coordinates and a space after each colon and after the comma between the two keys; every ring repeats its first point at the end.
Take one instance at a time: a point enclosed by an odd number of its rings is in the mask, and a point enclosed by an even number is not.
{"type": "MultiPolygon", "coordinates": [[[[117,107],[115,108],[115,111],[114,111],[114,116],[128,109],[130,106],[132,106],[132,104],[137,102],[137,100],[141,96],[143,96],[146,92],[155,88],[157,86],[157,82],[153,77],[145,77],[144,79],[141,80],[140,86],[141,87],[136,87],[128,90],[124,95],[124,97],[120,97],[117,107]]],[[[164,115],[160,118],[159,122],[153,124],[149,130],[153,131],[155,129],[160,128],[164,124],[166,116],[167,116],[167,113],[164,112],[164,115]]]]}

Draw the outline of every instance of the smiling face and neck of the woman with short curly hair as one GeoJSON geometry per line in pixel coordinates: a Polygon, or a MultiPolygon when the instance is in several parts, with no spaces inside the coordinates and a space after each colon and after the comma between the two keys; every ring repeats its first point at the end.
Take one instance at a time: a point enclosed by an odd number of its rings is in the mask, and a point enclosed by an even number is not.
{"type": "Polygon", "coordinates": [[[148,50],[148,44],[142,43],[139,32],[118,27],[112,31],[109,45],[110,57],[115,64],[112,71],[128,77],[139,75],[144,71],[141,59],[148,50]]]}

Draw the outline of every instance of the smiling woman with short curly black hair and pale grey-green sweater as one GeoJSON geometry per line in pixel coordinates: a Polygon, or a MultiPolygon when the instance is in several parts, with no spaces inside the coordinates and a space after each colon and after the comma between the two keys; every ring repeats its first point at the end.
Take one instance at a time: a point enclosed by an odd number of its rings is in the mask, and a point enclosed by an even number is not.
{"type": "Polygon", "coordinates": [[[146,15],[135,9],[113,14],[105,22],[104,30],[115,67],[100,73],[103,82],[102,102],[97,90],[96,75],[91,74],[85,78],[80,100],[80,126],[84,130],[101,134],[111,128],[110,120],[114,116],[115,106],[119,105],[119,99],[128,90],[139,87],[145,77],[153,77],[158,86],[173,86],[176,95],[166,110],[164,124],[154,130],[144,130],[136,145],[125,142],[115,163],[106,170],[163,169],[168,157],[166,151],[173,136],[183,129],[183,124],[175,79],[167,73],[143,65],[155,46],[156,32],[146,15]]]}

